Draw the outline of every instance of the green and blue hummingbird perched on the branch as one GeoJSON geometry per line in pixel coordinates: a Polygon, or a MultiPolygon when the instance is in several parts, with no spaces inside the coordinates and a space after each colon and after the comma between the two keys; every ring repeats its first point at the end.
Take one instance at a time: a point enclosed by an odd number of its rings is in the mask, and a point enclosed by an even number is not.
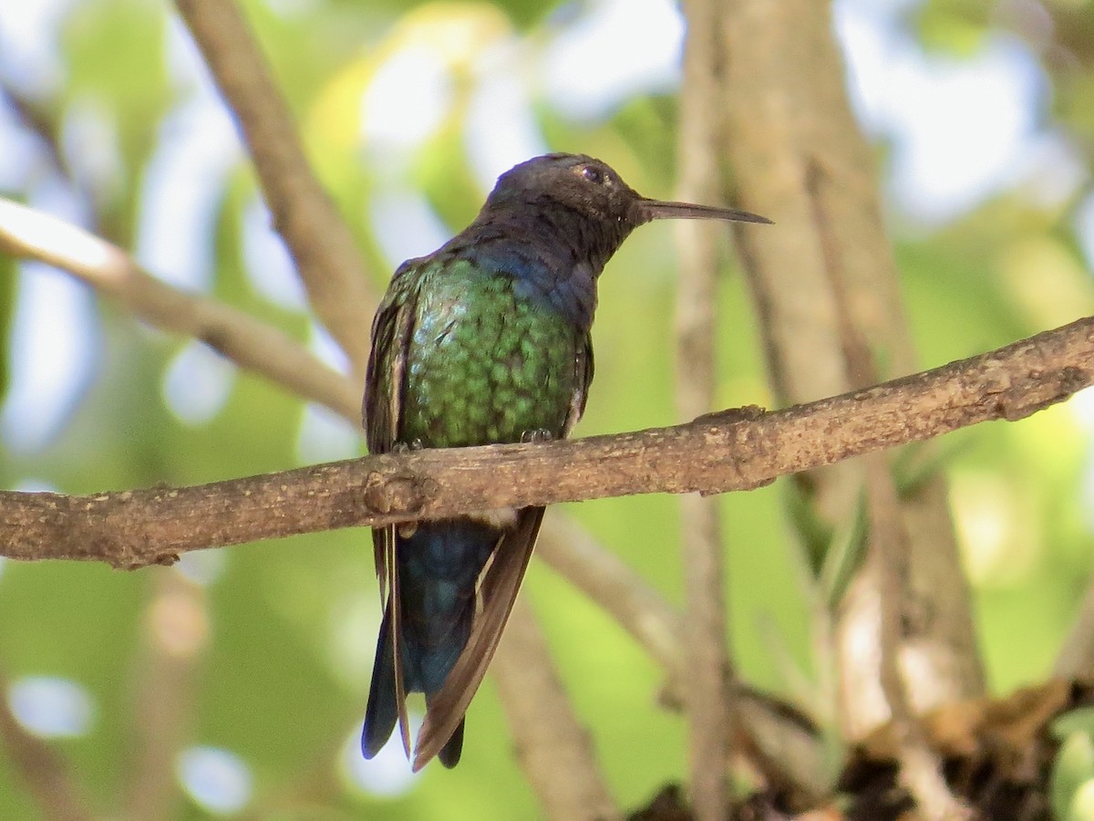
{"type": "MultiPolygon", "coordinates": [[[[372,453],[548,441],[569,435],[593,379],[590,332],[605,263],[657,219],[770,222],[649,199],[607,164],[551,153],[507,171],[475,220],[392,277],[372,324],[362,416],[372,453]]],[[[361,749],[426,696],[415,771],[459,761],[465,713],[532,556],[544,508],[469,510],[374,528],[384,616],[361,749]]]]}

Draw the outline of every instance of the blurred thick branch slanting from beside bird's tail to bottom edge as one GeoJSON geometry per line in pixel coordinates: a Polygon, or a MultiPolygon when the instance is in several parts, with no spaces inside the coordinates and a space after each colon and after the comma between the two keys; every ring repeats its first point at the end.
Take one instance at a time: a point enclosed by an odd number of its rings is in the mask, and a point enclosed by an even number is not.
{"type": "Polygon", "coordinates": [[[516,758],[558,821],[619,818],[596,765],[592,739],[573,714],[532,610],[517,599],[490,668],[516,745],[516,758]]]}

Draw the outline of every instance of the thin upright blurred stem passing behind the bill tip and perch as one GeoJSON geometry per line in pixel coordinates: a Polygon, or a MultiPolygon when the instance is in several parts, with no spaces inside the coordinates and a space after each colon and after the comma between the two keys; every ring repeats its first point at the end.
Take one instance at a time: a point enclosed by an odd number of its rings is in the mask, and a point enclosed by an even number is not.
{"type": "MultiPolygon", "coordinates": [[[[685,0],[687,39],[680,89],[678,198],[711,203],[720,193],[715,160],[720,38],[718,0],[685,0]]],[[[691,419],[714,405],[717,226],[682,221],[676,227],[676,408],[691,419]]],[[[688,763],[691,806],[699,821],[730,816],[729,775],[733,675],[725,624],[725,562],[718,499],[680,499],[684,589],[687,608],[684,654],[688,685],[688,763]]]]}

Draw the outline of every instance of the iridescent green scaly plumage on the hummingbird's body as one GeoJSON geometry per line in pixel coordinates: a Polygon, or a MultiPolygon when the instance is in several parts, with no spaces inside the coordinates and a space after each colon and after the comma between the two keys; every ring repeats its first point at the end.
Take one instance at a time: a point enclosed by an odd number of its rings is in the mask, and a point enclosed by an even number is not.
{"type": "MultiPolygon", "coordinates": [[[[466,261],[418,271],[397,439],[454,448],[561,437],[584,396],[587,338],[513,279],[466,261]]],[[[572,421],[572,420],[571,420],[572,421]]]]}

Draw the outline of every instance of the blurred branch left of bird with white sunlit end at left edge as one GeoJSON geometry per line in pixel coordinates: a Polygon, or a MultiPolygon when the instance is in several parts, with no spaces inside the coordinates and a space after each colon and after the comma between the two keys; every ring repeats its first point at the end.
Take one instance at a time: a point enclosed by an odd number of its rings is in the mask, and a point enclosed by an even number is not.
{"type": "Polygon", "coordinates": [[[241,368],[356,418],[360,392],[280,331],[147,274],[121,248],[33,208],[0,198],[0,251],[63,268],[156,327],[191,336],[241,368]]]}

